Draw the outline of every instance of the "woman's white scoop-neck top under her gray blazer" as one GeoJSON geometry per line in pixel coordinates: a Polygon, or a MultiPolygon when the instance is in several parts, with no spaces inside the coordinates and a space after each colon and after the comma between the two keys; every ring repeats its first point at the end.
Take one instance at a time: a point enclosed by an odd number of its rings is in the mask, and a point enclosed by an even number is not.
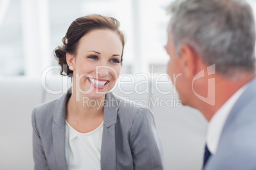
{"type": "Polygon", "coordinates": [[[89,133],[80,133],[66,121],[66,159],[69,170],[100,170],[103,122],[89,133]]]}

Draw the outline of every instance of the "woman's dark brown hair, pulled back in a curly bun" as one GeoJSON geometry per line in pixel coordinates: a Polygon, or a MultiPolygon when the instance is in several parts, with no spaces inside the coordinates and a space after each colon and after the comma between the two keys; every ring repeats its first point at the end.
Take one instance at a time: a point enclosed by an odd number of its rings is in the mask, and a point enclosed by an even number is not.
{"type": "Polygon", "coordinates": [[[117,32],[122,41],[123,50],[121,55],[121,63],[123,61],[123,52],[124,52],[124,33],[119,30],[120,23],[117,19],[102,16],[102,15],[87,15],[77,18],[71,23],[66,33],[66,36],[62,38],[63,45],[58,46],[54,50],[54,56],[59,61],[61,66],[60,74],[69,75],[73,74],[73,70],[68,69],[68,64],[66,61],[66,53],[71,55],[76,55],[76,50],[80,39],[88,34],[92,30],[97,29],[108,29],[117,32]]]}

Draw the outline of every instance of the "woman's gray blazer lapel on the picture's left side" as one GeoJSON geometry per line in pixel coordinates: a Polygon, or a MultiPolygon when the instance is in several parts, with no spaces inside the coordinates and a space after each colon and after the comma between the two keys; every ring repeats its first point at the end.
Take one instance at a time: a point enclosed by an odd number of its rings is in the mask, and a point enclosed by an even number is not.
{"type": "Polygon", "coordinates": [[[56,166],[59,170],[68,170],[65,153],[65,117],[67,96],[68,95],[63,95],[62,98],[59,98],[56,102],[53,114],[53,152],[55,155],[56,166]]]}

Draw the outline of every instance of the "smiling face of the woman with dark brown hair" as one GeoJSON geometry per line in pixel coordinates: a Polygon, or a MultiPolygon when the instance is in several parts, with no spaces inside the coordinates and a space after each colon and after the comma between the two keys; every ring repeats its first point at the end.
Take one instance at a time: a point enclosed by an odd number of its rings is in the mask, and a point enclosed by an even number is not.
{"type": "Polygon", "coordinates": [[[67,56],[74,67],[75,90],[89,98],[103,98],[120,75],[122,49],[120,37],[112,30],[92,30],[83,36],[76,56],[67,56]]]}

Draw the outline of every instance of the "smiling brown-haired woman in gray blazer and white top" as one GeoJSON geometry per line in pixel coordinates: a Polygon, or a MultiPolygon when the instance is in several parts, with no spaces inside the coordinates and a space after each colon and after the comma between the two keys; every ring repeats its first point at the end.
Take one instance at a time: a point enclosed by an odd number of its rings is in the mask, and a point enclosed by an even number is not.
{"type": "Polygon", "coordinates": [[[35,169],[163,169],[152,111],[109,92],[124,51],[119,22],[84,16],[62,41],[55,56],[73,86],[32,112],[35,169]]]}

